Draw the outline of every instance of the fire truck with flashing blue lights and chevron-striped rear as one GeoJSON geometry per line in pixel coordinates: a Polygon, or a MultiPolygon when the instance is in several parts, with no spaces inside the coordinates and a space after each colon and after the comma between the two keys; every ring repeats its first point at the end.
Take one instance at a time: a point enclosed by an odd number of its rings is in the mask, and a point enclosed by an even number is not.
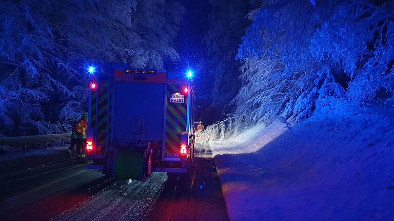
{"type": "Polygon", "coordinates": [[[90,72],[90,168],[122,180],[145,181],[152,171],[187,173],[194,153],[191,72],[177,61],[164,69],[104,63],[90,72]]]}

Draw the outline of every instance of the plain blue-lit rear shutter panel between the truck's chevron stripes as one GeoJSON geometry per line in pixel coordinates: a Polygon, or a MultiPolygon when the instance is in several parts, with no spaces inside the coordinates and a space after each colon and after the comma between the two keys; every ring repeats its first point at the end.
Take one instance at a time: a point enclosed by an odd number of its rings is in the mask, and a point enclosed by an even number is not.
{"type": "Polygon", "coordinates": [[[165,84],[115,82],[114,135],[117,141],[163,139],[165,84]]]}

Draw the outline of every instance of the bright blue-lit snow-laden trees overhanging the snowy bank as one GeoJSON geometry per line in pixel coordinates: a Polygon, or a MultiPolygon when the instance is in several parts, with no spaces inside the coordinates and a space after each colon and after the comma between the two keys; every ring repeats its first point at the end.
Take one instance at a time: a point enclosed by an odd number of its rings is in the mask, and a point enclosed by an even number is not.
{"type": "Polygon", "coordinates": [[[392,97],[392,1],[263,1],[237,58],[237,114],[298,121],[329,100],[360,105],[392,97]]]}

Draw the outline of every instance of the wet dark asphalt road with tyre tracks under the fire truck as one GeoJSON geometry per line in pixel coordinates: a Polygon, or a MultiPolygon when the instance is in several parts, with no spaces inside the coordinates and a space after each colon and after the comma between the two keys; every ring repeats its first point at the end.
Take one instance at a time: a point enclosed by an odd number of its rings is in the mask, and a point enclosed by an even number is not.
{"type": "Polygon", "coordinates": [[[63,154],[0,162],[1,220],[228,220],[209,145],[188,176],[115,181],[63,154]],[[48,160],[50,159],[50,160],[48,160]]]}

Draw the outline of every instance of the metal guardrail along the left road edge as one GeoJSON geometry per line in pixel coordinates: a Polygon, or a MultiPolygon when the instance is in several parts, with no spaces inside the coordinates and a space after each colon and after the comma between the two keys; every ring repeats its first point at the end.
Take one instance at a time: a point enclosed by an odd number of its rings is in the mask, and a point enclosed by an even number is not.
{"type": "Polygon", "coordinates": [[[4,137],[4,138],[0,138],[0,145],[23,143],[23,144],[25,144],[25,150],[26,150],[28,143],[35,143],[35,142],[39,142],[39,141],[44,141],[45,147],[48,147],[48,141],[51,141],[51,140],[62,140],[62,145],[64,145],[64,140],[70,139],[70,136],[71,136],[71,133],[22,136],[22,137],[4,137]]]}

